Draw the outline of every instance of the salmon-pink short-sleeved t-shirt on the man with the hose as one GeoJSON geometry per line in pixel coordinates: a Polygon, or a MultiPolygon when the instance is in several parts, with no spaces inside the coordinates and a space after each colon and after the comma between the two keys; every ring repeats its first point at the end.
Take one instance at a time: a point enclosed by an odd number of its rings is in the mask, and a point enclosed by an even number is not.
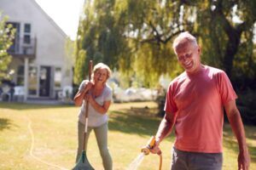
{"type": "Polygon", "coordinates": [[[236,99],[224,71],[203,65],[195,75],[183,72],[166,94],[166,114],[177,114],[177,150],[221,153],[224,105],[236,99]]]}

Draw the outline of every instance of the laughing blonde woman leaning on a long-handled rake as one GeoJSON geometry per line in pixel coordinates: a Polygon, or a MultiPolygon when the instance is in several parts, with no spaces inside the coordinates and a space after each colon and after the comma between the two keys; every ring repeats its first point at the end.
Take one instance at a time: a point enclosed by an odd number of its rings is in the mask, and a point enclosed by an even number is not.
{"type": "Polygon", "coordinates": [[[93,68],[92,81],[81,82],[79,92],[74,97],[75,105],[82,105],[79,112],[78,136],[79,147],[76,161],[83,150],[83,135],[85,123],[86,100],[89,103],[88,109],[88,132],[85,137],[85,150],[91,130],[96,134],[96,140],[101,152],[103,167],[105,170],[112,169],[112,158],[108,151],[108,108],[112,100],[112,89],[106,83],[111,71],[108,65],[98,63],[93,68]]]}

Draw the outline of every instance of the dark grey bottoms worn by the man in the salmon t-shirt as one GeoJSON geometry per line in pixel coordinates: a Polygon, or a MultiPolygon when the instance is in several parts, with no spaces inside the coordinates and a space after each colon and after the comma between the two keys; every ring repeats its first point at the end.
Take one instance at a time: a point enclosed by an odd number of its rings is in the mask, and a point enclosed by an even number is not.
{"type": "Polygon", "coordinates": [[[172,170],[221,170],[222,153],[198,153],[173,147],[172,170]]]}

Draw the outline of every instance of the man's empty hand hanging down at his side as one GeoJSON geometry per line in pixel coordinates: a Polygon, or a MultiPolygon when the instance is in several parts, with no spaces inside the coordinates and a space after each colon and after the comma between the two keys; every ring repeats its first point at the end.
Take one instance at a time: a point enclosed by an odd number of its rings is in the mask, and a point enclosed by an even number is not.
{"type": "Polygon", "coordinates": [[[241,150],[238,155],[238,170],[249,170],[250,167],[250,156],[247,150],[241,150]]]}

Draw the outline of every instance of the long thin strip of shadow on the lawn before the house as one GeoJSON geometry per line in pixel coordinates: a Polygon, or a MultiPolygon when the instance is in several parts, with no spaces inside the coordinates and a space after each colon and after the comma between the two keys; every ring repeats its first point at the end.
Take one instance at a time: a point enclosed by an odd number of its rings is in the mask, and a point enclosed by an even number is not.
{"type": "Polygon", "coordinates": [[[0,110],[11,109],[11,110],[34,110],[34,109],[50,109],[50,108],[63,108],[63,107],[73,107],[74,105],[38,105],[38,104],[23,104],[23,103],[0,103],[0,110]]]}

